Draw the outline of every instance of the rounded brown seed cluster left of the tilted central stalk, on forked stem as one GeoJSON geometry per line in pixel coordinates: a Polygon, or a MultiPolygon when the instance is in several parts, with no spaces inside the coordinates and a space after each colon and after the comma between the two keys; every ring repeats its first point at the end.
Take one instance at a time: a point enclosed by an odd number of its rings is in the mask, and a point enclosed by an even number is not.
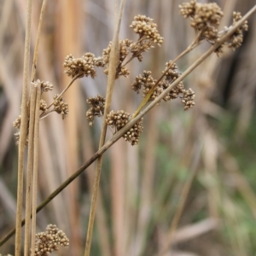
{"type": "Polygon", "coordinates": [[[65,67],[65,73],[72,78],[75,76],[90,76],[94,79],[96,76],[96,63],[97,65],[100,65],[101,61],[98,58],[95,58],[95,55],[88,52],[77,59],[74,58],[73,55],[67,55],[63,63],[63,67],[65,67]]]}

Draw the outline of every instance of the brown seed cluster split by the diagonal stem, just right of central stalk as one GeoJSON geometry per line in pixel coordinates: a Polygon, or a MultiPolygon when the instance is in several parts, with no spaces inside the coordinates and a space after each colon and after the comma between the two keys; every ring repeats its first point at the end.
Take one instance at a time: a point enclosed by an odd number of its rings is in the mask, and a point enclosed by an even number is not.
{"type": "MultiPolygon", "coordinates": [[[[130,119],[131,114],[125,112],[124,110],[119,110],[114,112],[113,110],[107,115],[107,124],[119,131],[122,129],[130,119]]],[[[129,131],[124,134],[125,141],[131,143],[131,145],[137,145],[139,137],[143,132],[143,118],[139,119],[135,125],[131,127],[129,131]]]]}

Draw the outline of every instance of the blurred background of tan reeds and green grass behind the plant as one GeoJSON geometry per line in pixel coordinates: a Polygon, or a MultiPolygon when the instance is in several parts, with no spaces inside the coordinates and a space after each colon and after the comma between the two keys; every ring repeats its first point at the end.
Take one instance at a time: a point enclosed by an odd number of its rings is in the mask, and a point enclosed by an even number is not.
{"type": "MultiPolygon", "coordinates": [[[[54,84],[46,102],[69,82],[62,67],[66,55],[100,56],[107,48],[113,2],[48,1],[36,75],[54,84]]],[[[221,28],[231,25],[233,10],[244,15],[255,4],[215,2],[224,10],[221,28]]],[[[33,1],[31,53],[42,3],[33,1]]],[[[135,77],[151,70],[158,79],[165,63],[192,42],[195,32],[179,15],[181,3],[126,1],[119,38],[137,40],[129,25],[140,14],[154,19],[164,44],[144,54],[143,62],[132,61],[130,76],[117,80],[113,110],[133,113],[142,101],[131,90],[135,77]]],[[[25,23],[25,0],[0,1],[1,238],[15,226],[18,152],[12,123],[20,114],[25,23]]],[[[195,108],[184,112],[179,100],[161,102],[144,118],[138,146],[120,139],[104,154],[91,255],[256,255],[256,15],[248,24],[241,48],[210,56],[185,79],[185,87],[195,90],[195,108]]],[[[202,44],[183,57],[179,70],[208,47],[202,44]]],[[[38,204],[96,152],[102,119],[89,126],[86,99],[105,95],[106,84],[100,68],[96,79],[79,79],[64,95],[67,119],[52,113],[40,122],[38,204]]],[[[94,170],[93,164],[38,213],[38,231],[57,224],[69,237],[70,247],[60,255],[84,253],[94,170]]],[[[14,250],[12,237],[0,253],[14,250]]]]}

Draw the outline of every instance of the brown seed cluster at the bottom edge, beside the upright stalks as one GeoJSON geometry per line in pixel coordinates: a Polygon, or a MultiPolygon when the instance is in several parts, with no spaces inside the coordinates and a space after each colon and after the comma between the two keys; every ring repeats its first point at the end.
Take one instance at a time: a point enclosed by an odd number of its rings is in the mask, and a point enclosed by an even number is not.
{"type": "Polygon", "coordinates": [[[48,256],[58,251],[59,247],[68,247],[69,240],[66,234],[54,224],[49,224],[45,232],[36,234],[35,255],[48,256]]]}

